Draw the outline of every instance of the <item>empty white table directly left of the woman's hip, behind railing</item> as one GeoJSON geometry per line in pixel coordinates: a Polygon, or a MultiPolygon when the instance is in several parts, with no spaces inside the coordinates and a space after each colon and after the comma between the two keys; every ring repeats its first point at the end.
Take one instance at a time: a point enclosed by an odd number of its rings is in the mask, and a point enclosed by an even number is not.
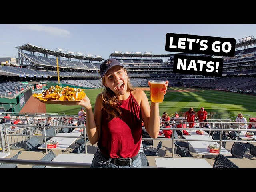
{"type": "MultiPolygon", "coordinates": [[[[58,154],[52,161],[73,162],[73,163],[92,163],[94,154],[58,154]]],[[[45,168],[63,168],[46,166],[45,168]]]]}

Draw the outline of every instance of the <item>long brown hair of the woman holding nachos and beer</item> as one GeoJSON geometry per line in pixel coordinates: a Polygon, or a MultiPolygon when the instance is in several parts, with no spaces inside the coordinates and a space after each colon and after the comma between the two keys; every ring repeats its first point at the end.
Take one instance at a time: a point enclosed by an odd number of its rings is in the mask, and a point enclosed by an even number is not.
{"type": "MultiPolygon", "coordinates": [[[[127,76],[127,70],[122,68],[124,70],[124,72],[126,72],[127,76]]],[[[118,99],[118,97],[114,94],[114,92],[108,88],[105,87],[105,76],[102,79],[102,90],[101,90],[101,96],[102,96],[102,100],[103,100],[103,109],[106,111],[107,114],[107,120],[112,120],[116,117],[120,117],[121,116],[121,110],[118,107],[118,105],[121,105],[120,100],[118,99]],[[104,89],[103,89],[104,88],[104,89]]],[[[133,91],[134,89],[132,88],[132,84],[130,82],[130,77],[128,76],[127,79],[127,91],[133,91]]]]}

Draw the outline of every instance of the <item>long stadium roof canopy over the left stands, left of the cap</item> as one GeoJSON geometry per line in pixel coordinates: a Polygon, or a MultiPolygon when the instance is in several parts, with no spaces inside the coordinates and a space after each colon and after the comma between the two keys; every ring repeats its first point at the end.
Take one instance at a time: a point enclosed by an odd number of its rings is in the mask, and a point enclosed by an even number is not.
{"type": "Polygon", "coordinates": [[[42,53],[42,54],[49,54],[49,55],[53,55],[53,56],[60,56],[60,57],[65,57],[65,58],[74,58],[74,59],[84,59],[84,60],[94,60],[94,61],[102,61],[103,58],[101,57],[93,57],[91,55],[86,55],[84,56],[84,54],[81,54],[81,53],[76,53],[76,54],[73,54],[72,52],[70,51],[67,51],[66,53],[64,53],[65,51],[63,50],[62,51],[58,51],[60,49],[56,49],[56,51],[52,51],[52,50],[48,50],[48,49],[44,49],[44,48],[41,48],[41,47],[38,47],[38,46],[34,46],[32,44],[24,44],[22,46],[18,46],[18,47],[15,47],[16,49],[18,50],[25,50],[25,51],[29,51],[29,52],[37,52],[37,53],[42,53]]]}

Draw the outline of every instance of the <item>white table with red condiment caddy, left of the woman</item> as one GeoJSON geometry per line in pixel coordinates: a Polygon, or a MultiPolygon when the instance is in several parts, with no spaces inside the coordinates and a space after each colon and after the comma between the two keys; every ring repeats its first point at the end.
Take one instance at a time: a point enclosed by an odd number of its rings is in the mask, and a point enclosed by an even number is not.
{"type": "MultiPolygon", "coordinates": [[[[56,134],[56,136],[77,136],[79,137],[81,135],[81,132],[79,133],[58,133],[56,134]]],[[[61,150],[62,152],[64,152],[64,150],[68,149],[69,146],[74,143],[74,141],[76,140],[77,138],[68,138],[68,137],[53,137],[51,138],[50,140],[51,141],[57,141],[59,144],[58,144],[58,147],[56,148],[50,148],[52,150],[54,149],[58,149],[58,150],[61,150]]],[[[50,141],[48,140],[48,142],[50,141]]],[[[38,149],[45,149],[45,143],[42,144],[41,146],[38,147],[38,149]]]]}

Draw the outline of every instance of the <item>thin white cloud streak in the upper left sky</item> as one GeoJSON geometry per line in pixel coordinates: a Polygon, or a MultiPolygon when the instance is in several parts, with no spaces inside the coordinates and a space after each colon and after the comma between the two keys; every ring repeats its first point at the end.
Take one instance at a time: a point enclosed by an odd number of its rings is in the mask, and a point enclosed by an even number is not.
{"type": "Polygon", "coordinates": [[[60,29],[56,27],[50,27],[50,26],[43,26],[38,24],[18,24],[14,25],[20,29],[27,29],[32,31],[38,31],[38,32],[46,32],[47,34],[53,35],[53,36],[59,36],[59,37],[69,37],[70,32],[65,29],[60,29]]]}

